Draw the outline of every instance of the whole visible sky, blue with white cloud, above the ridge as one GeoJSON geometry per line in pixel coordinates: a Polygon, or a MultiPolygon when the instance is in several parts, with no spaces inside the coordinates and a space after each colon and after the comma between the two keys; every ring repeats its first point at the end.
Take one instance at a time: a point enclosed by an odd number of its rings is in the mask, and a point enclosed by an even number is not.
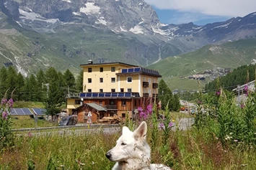
{"type": "Polygon", "coordinates": [[[224,22],[256,11],[256,0],[144,0],[164,24],[224,22]]]}

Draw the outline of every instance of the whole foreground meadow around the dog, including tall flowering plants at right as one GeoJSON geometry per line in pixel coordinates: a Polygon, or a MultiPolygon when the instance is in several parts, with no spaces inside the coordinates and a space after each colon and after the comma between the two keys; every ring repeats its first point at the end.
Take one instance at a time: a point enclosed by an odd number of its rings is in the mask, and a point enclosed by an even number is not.
{"type": "MultiPolygon", "coordinates": [[[[195,124],[187,131],[171,130],[172,119],[177,117],[169,111],[163,112],[165,119],[159,124],[155,109],[138,121],[126,119],[120,127],[133,130],[142,120],[148,123],[152,163],[172,169],[256,169],[254,103],[255,93],[249,93],[247,101],[237,105],[234,95],[221,90],[200,96],[195,124]]],[[[11,117],[3,118],[1,125],[12,121],[11,117]]],[[[65,131],[41,136],[26,132],[14,134],[13,138],[6,135],[9,141],[0,143],[0,169],[111,169],[115,163],[105,154],[115,146],[120,134],[84,130],[71,135],[65,131]]]]}

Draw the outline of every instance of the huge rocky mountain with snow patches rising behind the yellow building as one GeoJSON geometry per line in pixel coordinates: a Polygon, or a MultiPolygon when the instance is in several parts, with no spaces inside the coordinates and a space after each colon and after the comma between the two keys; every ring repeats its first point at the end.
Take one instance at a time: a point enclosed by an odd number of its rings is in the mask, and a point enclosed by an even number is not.
{"type": "Polygon", "coordinates": [[[167,25],[144,0],[0,0],[0,10],[0,66],[15,65],[24,75],[49,66],[76,72],[89,59],[147,66],[256,36],[256,13],[167,25]]]}

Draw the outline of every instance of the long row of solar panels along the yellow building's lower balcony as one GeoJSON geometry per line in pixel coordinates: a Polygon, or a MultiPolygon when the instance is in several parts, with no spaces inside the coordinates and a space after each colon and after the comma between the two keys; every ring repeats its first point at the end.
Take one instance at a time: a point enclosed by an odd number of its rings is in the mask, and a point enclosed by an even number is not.
{"type": "Polygon", "coordinates": [[[80,93],[80,98],[131,98],[140,97],[139,93],[80,93]]]}

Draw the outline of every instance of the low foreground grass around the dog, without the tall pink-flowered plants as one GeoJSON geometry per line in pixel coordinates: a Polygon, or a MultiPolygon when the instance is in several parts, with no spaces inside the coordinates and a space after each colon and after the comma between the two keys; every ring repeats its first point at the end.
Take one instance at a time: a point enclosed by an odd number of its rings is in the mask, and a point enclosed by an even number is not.
{"type": "MultiPolygon", "coordinates": [[[[35,169],[112,169],[115,164],[105,158],[120,133],[106,135],[91,133],[81,136],[17,136],[12,148],[0,154],[0,169],[28,169],[30,160],[35,169]],[[81,163],[81,164],[80,164],[81,163]],[[84,165],[83,165],[84,164],[84,165]]],[[[151,130],[148,132],[150,143],[151,130]]],[[[162,131],[158,133],[157,148],[151,152],[151,161],[172,166],[172,169],[256,169],[255,148],[223,148],[221,143],[203,131],[172,131],[168,151],[162,155],[162,131]],[[171,158],[171,159],[167,159],[171,158]]]]}

